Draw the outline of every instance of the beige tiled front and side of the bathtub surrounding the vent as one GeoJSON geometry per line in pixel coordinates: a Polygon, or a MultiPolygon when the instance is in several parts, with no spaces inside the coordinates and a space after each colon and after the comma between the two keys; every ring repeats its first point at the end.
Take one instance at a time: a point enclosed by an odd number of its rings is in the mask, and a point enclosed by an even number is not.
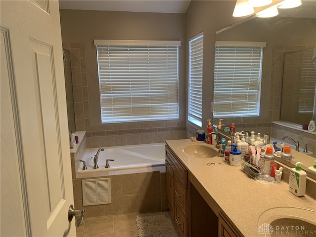
{"type": "MultiPolygon", "coordinates": [[[[165,164],[124,169],[79,170],[79,159],[85,152],[81,146],[73,154],[73,187],[76,209],[85,209],[86,217],[145,213],[167,210],[165,197],[165,164]],[[83,152],[82,152],[83,151],[83,152]],[[75,167],[76,166],[76,170],[75,167]],[[82,180],[111,178],[111,204],[83,206],[82,180]]],[[[163,147],[164,149],[164,147],[163,147]]],[[[101,152],[102,153],[102,152],[101,152]]],[[[164,153],[163,153],[164,158],[164,153]]],[[[111,164],[110,164],[111,165],[111,164]]]]}

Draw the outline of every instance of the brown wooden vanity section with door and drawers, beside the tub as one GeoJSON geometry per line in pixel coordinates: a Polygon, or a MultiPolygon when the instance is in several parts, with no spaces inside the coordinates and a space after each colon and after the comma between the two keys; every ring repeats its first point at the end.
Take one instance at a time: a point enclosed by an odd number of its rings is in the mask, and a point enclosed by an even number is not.
{"type": "Polygon", "coordinates": [[[188,237],[188,171],[166,145],[166,197],[178,232],[188,237]]]}

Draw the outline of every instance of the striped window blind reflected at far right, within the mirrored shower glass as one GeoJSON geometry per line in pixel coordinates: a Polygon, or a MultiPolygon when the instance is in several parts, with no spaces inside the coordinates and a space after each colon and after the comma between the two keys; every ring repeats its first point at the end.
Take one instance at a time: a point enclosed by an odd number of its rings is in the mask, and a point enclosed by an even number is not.
{"type": "Polygon", "coordinates": [[[301,52],[301,78],[299,93],[299,114],[309,114],[314,111],[316,88],[316,67],[313,64],[313,50],[301,52]]]}

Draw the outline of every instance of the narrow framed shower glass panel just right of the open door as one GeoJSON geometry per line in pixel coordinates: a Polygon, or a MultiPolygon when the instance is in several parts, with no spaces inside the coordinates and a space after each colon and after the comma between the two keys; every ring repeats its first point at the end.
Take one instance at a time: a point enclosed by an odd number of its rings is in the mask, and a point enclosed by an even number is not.
{"type": "Polygon", "coordinates": [[[76,130],[75,125],[75,111],[74,111],[74,93],[73,93],[73,79],[71,72],[70,52],[63,49],[64,58],[64,74],[66,86],[66,101],[67,101],[67,115],[68,115],[68,130],[76,130]]]}

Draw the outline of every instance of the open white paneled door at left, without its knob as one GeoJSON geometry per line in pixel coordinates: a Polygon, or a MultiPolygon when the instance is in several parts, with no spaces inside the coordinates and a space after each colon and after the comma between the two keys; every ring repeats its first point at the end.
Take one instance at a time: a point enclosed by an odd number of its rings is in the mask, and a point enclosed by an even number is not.
{"type": "Polygon", "coordinates": [[[0,11],[0,236],[76,236],[58,1],[0,11]]]}

